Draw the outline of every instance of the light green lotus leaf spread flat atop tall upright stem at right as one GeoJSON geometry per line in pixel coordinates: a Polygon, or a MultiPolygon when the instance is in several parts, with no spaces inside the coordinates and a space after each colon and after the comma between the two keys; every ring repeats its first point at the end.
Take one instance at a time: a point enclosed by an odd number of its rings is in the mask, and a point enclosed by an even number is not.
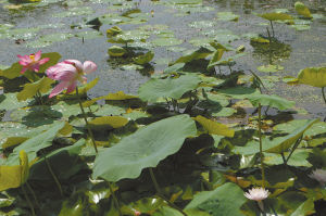
{"type": "Polygon", "coordinates": [[[261,104],[261,105],[267,105],[271,107],[276,107],[280,111],[291,109],[294,105],[294,101],[289,101],[287,99],[283,99],[275,94],[272,94],[272,96],[255,94],[255,96],[248,97],[248,99],[254,106],[259,106],[259,104],[261,104]]]}

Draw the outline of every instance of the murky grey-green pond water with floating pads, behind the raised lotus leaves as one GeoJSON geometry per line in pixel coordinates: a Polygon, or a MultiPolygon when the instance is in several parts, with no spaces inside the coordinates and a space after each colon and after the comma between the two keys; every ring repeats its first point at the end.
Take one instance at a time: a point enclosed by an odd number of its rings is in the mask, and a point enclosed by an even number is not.
{"type": "MultiPolygon", "coordinates": [[[[16,54],[33,53],[39,49],[42,52],[60,52],[63,59],[92,60],[99,68],[97,73],[89,75],[89,80],[100,77],[100,81],[96,88],[89,91],[89,94],[97,97],[118,90],[137,93],[138,87],[148,80],[149,74],[161,73],[168,62],[176,60],[187,50],[202,46],[216,35],[220,35],[221,40],[226,40],[226,42],[234,37],[236,40],[230,45],[246,47],[248,54],[237,60],[237,64],[233,67],[234,71],[244,71],[247,74],[249,74],[249,69],[256,72],[258,66],[266,65],[271,61],[268,49],[264,46],[251,45],[242,35],[256,33],[267,36],[268,23],[252,13],[288,9],[288,13],[294,14],[296,1],[204,0],[199,7],[172,4],[168,3],[172,1],[167,0],[45,0],[37,4],[24,4],[23,8],[20,8],[20,4],[13,4],[14,1],[10,2],[0,0],[0,25],[8,24],[12,25],[12,29],[28,28],[28,30],[12,30],[11,36],[8,36],[3,34],[3,26],[0,28],[0,65],[10,65],[17,61],[16,54]],[[129,18],[127,23],[126,21],[117,22],[116,20],[121,16],[116,16],[115,20],[111,17],[110,22],[100,26],[99,31],[86,25],[87,21],[95,17],[109,14],[118,15],[130,9],[139,9],[141,13],[129,18]],[[239,21],[218,21],[216,13],[225,11],[231,11],[239,15],[239,21]],[[130,24],[133,22],[141,24],[130,24]],[[163,25],[150,27],[151,36],[147,39],[148,49],[155,53],[150,66],[140,71],[123,69],[121,63],[125,63],[125,61],[116,61],[108,55],[108,49],[112,45],[106,42],[105,31],[114,25],[124,30],[136,29],[143,25],[163,25]],[[164,26],[165,29],[162,28],[164,26]],[[160,33],[158,34],[155,30],[160,33]],[[231,33],[226,33],[226,30],[231,33]],[[226,34],[229,36],[225,37],[226,34]],[[48,39],[43,39],[45,37],[48,39]],[[83,37],[85,38],[84,42],[83,37]],[[156,38],[170,38],[167,41],[180,45],[155,46],[151,41],[156,38]],[[43,39],[43,43],[40,43],[39,39],[43,39]]],[[[312,13],[324,14],[324,17],[314,20],[310,24],[311,28],[303,31],[296,30],[286,24],[275,23],[277,41],[272,45],[272,60],[274,64],[284,66],[284,71],[258,74],[273,80],[268,85],[271,93],[294,100],[298,106],[306,109],[312,115],[325,116],[325,104],[323,104],[319,89],[308,86],[291,87],[281,82],[284,76],[296,76],[302,68],[326,64],[326,1],[303,2],[312,13]]],[[[222,69],[224,74],[229,73],[227,67],[222,69]]]]}

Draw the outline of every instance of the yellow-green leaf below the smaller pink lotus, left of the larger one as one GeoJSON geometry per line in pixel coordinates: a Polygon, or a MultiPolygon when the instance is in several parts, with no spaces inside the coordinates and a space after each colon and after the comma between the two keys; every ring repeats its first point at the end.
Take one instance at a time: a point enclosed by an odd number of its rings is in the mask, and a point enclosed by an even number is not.
{"type": "Polygon", "coordinates": [[[51,89],[51,85],[54,82],[54,80],[43,77],[39,79],[38,81],[26,84],[24,86],[24,89],[17,93],[17,100],[18,101],[26,101],[27,99],[33,98],[36,96],[36,93],[47,93],[51,89]]]}

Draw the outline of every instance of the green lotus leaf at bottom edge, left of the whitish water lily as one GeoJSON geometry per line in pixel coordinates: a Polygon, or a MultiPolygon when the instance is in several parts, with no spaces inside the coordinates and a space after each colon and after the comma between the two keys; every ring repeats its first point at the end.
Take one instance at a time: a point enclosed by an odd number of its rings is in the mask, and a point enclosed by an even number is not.
{"type": "Polygon", "coordinates": [[[246,201],[241,188],[227,182],[213,191],[197,193],[185,209],[199,208],[212,216],[243,216],[240,207],[246,201]]]}

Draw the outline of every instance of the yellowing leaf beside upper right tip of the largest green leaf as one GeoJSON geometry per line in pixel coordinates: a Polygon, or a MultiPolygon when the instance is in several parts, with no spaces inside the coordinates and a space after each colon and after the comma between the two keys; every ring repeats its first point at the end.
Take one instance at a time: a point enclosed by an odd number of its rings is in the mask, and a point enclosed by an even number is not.
{"type": "Polygon", "coordinates": [[[210,135],[222,135],[226,137],[235,136],[235,130],[229,129],[226,125],[223,125],[221,123],[208,119],[201,115],[198,115],[193,119],[201,124],[210,135]]]}

